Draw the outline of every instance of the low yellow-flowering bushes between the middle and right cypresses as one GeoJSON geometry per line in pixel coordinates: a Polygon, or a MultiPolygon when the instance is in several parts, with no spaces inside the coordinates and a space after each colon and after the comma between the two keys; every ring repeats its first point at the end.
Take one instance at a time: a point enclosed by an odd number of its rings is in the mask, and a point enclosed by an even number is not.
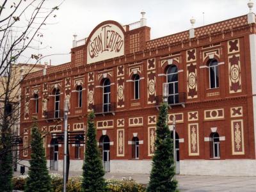
{"type": "Polygon", "coordinates": [[[146,188],[136,183],[134,180],[108,180],[108,191],[109,192],[145,192],[146,188]]]}

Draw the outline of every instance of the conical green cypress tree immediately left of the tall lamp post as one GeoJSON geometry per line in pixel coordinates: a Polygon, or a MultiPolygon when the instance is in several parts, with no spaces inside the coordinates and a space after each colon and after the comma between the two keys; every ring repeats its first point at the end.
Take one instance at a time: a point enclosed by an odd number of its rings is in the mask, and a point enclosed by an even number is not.
{"type": "Polygon", "coordinates": [[[36,122],[33,122],[31,129],[31,160],[25,191],[48,192],[51,191],[51,177],[47,170],[42,134],[38,131],[36,122]]]}

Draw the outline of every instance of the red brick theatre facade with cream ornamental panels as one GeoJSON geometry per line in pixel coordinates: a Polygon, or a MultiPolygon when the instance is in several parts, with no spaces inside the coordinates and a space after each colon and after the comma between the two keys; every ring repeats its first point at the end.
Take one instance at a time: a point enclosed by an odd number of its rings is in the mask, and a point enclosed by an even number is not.
{"type": "MultiPolygon", "coordinates": [[[[21,84],[24,147],[36,116],[49,166],[62,170],[66,99],[75,140],[69,145],[70,170],[83,165],[79,136],[93,110],[106,171],[148,173],[163,83],[168,83],[177,172],[255,175],[255,51],[254,13],[154,40],[144,17],[126,26],[102,22],[88,38],[74,40],[70,63],[29,74],[21,84]]],[[[23,150],[20,158],[29,154],[23,150]]]]}

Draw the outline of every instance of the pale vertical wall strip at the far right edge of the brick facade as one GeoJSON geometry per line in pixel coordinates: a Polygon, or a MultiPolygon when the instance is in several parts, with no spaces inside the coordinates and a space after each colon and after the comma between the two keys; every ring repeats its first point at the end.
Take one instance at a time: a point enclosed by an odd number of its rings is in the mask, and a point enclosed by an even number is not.
{"type": "MultiPolygon", "coordinates": [[[[251,73],[252,73],[252,95],[253,95],[253,127],[254,140],[256,139],[256,35],[251,34],[250,38],[250,56],[251,56],[251,73]]],[[[256,142],[254,142],[254,150],[256,152],[256,142]]]]}

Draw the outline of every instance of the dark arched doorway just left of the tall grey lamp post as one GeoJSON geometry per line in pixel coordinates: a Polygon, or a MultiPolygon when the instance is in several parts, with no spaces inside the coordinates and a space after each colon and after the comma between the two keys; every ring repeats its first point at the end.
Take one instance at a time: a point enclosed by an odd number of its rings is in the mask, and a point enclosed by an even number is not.
{"type": "Polygon", "coordinates": [[[51,170],[58,170],[58,160],[59,160],[59,143],[57,138],[52,138],[51,150],[50,150],[50,169],[51,170]]]}

